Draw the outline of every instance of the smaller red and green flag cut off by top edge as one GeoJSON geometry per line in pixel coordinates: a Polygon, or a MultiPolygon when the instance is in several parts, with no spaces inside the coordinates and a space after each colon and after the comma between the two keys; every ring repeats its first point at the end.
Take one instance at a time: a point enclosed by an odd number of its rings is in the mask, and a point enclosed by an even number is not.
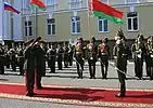
{"type": "Polygon", "coordinates": [[[43,11],[47,10],[47,6],[44,5],[44,3],[41,0],[30,0],[30,4],[31,6],[41,9],[43,11]]]}

